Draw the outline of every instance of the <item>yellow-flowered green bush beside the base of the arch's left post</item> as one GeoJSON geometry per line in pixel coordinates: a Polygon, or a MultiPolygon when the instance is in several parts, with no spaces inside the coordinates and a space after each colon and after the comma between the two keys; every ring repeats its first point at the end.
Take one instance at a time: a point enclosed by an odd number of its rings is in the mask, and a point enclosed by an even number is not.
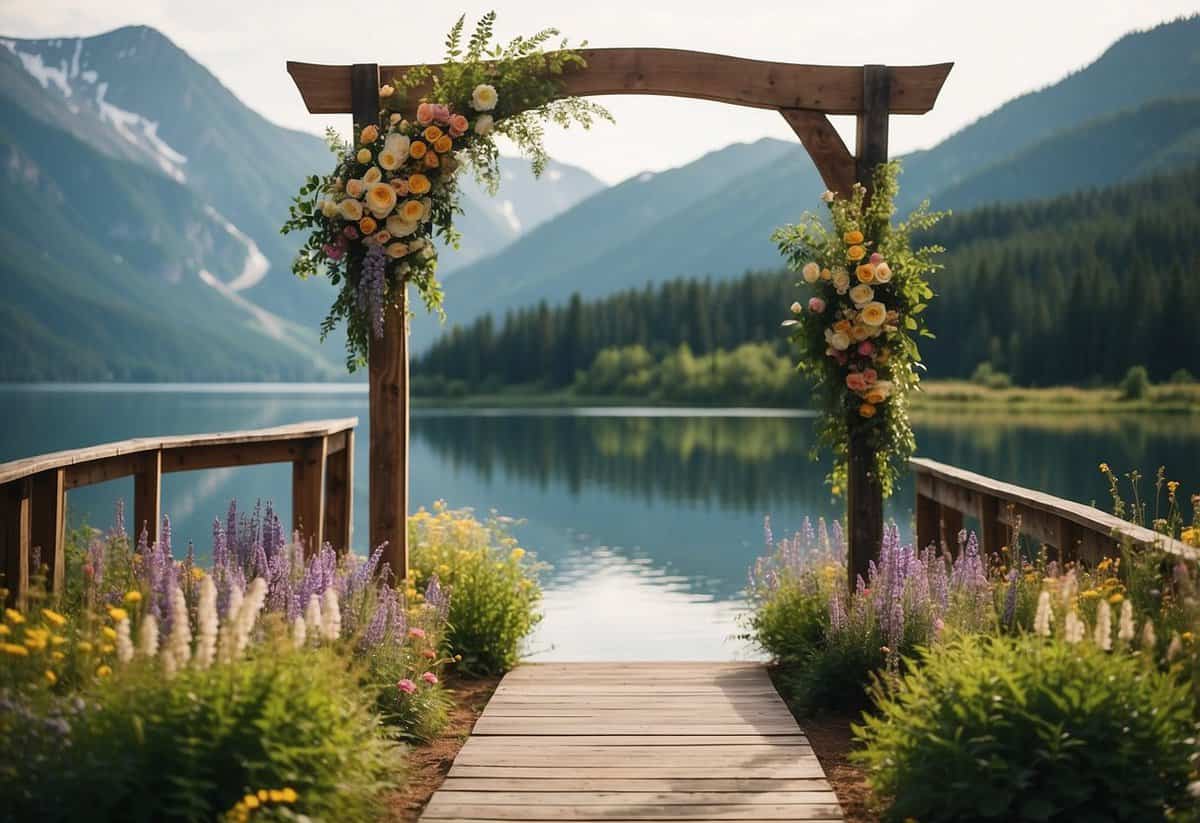
{"type": "Polygon", "coordinates": [[[458,668],[481,675],[516,666],[521,642],[541,620],[540,564],[496,519],[481,523],[442,504],[409,518],[409,545],[414,584],[437,575],[450,590],[444,650],[461,655],[458,668]]]}

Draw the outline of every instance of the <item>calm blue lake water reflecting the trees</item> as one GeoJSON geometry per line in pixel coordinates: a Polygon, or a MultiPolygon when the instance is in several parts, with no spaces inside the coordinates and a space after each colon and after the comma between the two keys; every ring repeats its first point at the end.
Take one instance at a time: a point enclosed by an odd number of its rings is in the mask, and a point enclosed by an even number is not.
{"type": "MultiPolygon", "coordinates": [[[[152,434],[257,428],[358,416],[355,524],[365,539],[365,386],[0,386],[0,461],[152,434]]],[[[733,639],[763,517],[776,534],[805,515],[836,517],[809,461],[811,419],[772,410],[581,409],[413,413],[412,500],[438,499],[522,518],[517,536],[551,564],[535,659],[746,656],[733,639]]],[[[964,417],[918,422],[920,453],[1084,503],[1106,499],[1097,471],[1200,485],[1200,421],[1189,417],[964,417]]],[[[170,474],[163,509],[176,539],[209,553],[230,498],[274,499],[288,522],[290,469],[170,474]]],[[[70,495],[72,522],[106,525],[118,480],[70,495]]],[[[907,533],[912,494],[889,515],[907,533]]],[[[182,543],[180,543],[182,545],[182,543]]],[[[365,551],[360,542],[358,551],[365,551]]]]}

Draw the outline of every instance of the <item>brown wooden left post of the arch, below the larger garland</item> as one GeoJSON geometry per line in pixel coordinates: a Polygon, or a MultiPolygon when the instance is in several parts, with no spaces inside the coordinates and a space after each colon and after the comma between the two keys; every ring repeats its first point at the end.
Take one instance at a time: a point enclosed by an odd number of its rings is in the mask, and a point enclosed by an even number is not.
{"type": "MultiPolygon", "coordinates": [[[[379,66],[350,67],[350,109],[356,126],[379,116],[379,66]]],[[[383,337],[371,340],[368,552],[386,543],[383,561],[396,578],[408,577],[408,294],[394,295],[383,337]]]]}

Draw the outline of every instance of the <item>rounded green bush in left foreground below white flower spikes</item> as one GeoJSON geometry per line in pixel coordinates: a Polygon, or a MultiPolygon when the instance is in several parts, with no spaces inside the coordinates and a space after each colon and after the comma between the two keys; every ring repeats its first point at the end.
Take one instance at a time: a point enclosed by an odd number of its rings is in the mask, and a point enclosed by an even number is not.
{"type": "Polygon", "coordinates": [[[271,651],[170,680],[132,667],[89,692],[70,746],[25,770],[26,818],[209,822],[287,788],[296,812],[376,819],[400,750],[355,667],[329,649],[271,651]]]}

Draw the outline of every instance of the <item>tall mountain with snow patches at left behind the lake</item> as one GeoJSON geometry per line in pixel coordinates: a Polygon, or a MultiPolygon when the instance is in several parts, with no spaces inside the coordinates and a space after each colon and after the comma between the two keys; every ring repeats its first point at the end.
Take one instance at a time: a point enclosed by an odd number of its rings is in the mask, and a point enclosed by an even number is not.
{"type": "MultiPolygon", "coordinates": [[[[332,163],[322,139],[269,122],[146,26],[0,38],[0,113],[5,211],[54,206],[49,230],[0,235],[0,341],[43,353],[7,359],[0,379],[344,373],[341,341],[318,344],[331,287],[293,277],[299,238],[278,234],[300,181],[332,163]]],[[[494,199],[466,185],[467,242],[445,253],[445,272],[601,186],[554,164],[534,194],[528,163],[504,158],[502,173],[494,199]]]]}

